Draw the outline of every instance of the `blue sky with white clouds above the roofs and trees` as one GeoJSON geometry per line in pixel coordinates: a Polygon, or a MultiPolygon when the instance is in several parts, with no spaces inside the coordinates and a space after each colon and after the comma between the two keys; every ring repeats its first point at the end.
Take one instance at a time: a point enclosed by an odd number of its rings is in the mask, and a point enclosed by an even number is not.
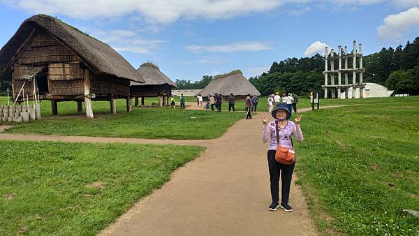
{"type": "Polygon", "coordinates": [[[363,54],[419,36],[419,0],[0,0],[0,47],[31,15],[58,17],[108,43],[138,68],[152,62],[172,80],[240,69],[260,75],[273,61],[363,54]]]}

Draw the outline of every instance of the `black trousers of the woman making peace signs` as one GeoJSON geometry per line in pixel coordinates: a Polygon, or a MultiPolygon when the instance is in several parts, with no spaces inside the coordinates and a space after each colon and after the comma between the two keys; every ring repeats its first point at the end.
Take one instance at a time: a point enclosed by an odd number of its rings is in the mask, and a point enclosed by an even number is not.
{"type": "Polygon", "coordinates": [[[281,202],[288,203],[295,162],[291,165],[277,162],[275,160],[276,152],[275,150],[267,151],[272,202],[279,202],[279,175],[281,175],[281,202]]]}

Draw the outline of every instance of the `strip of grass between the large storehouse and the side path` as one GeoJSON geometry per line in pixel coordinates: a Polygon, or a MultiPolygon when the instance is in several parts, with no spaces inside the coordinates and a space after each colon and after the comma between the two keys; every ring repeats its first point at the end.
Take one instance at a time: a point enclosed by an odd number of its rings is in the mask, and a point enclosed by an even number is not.
{"type": "Polygon", "coordinates": [[[121,138],[213,139],[221,137],[227,128],[242,118],[243,112],[140,108],[117,115],[96,113],[95,119],[88,119],[83,115],[45,116],[41,120],[17,124],[6,132],[121,138]]]}

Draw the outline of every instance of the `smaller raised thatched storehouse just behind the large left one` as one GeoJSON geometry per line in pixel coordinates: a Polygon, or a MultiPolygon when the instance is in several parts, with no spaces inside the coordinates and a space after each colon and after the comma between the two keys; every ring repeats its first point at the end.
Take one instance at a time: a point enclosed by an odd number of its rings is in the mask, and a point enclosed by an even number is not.
{"type": "Polygon", "coordinates": [[[131,82],[131,96],[135,98],[135,106],[138,105],[138,98],[141,97],[141,105],[144,105],[145,97],[159,97],[159,105],[168,105],[169,97],[172,95],[172,88],[176,84],[165,74],[161,73],[159,67],[149,62],[142,64],[138,69],[145,83],[131,82]]]}

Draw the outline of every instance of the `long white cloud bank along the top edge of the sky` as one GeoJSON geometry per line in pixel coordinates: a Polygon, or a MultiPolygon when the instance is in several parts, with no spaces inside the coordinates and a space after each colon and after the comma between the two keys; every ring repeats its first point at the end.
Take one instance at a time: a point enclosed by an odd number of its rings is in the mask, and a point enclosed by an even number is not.
{"type": "MultiPolygon", "coordinates": [[[[362,6],[390,0],[0,0],[29,13],[66,15],[82,20],[130,16],[136,20],[168,24],[181,18],[225,19],[250,13],[265,13],[291,6],[289,14],[301,14],[312,6],[362,6]]],[[[418,0],[392,0],[411,6],[418,0]]]]}

